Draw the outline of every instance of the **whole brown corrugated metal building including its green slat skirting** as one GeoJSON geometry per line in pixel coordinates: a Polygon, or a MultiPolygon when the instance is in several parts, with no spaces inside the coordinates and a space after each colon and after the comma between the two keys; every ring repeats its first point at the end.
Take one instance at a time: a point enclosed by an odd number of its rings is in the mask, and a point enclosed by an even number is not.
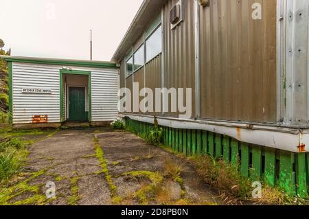
{"type": "Polygon", "coordinates": [[[158,123],[174,150],[239,155],[244,176],[255,168],[269,184],[301,192],[295,185],[306,189],[309,177],[308,8],[308,0],[145,0],[112,59],[120,86],[192,88],[192,116],[166,111],[172,100],[164,97],[161,111],[120,115],[138,132],[158,123]]]}

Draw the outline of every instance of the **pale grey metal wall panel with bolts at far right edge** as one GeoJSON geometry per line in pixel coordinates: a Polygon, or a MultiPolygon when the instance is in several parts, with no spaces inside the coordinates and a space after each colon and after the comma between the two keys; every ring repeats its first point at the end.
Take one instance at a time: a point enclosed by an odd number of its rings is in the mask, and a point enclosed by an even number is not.
{"type": "Polygon", "coordinates": [[[286,122],[306,126],[309,120],[308,8],[308,0],[287,0],[286,14],[282,12],[286,18],[286,122]]]}

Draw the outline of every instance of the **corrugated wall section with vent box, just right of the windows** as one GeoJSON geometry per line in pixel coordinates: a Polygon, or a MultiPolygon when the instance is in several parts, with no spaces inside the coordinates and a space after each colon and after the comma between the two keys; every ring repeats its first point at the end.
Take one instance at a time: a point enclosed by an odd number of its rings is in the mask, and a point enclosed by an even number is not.
{"type": "MultiPolygon", "coordinates": [[[[192,88],[192,117],[194,117],[194,1],[184,1],[184,21],[174,30],[170,30],[170,10],[176,3],[177,0],[171,0],[163,7],[165,87],[192,88]]],[[[178,116],[179,113],[166,113],[166,115],[178,116]]]]}

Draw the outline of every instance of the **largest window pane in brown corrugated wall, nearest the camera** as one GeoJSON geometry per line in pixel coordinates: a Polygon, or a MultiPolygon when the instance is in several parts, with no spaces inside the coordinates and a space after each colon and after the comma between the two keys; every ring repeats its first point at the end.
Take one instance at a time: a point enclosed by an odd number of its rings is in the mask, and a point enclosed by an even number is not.
{"type": "Polygon", "coordinates": [[[146,62],[155,58],[162,51],[162,26],[153,32],[146,41],[146,62]]]}

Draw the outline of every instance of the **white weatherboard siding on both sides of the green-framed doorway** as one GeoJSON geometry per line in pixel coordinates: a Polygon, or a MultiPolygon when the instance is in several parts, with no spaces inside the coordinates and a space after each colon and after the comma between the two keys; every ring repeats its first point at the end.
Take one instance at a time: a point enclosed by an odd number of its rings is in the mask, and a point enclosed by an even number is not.
{"type": "MultiPolygon", "coordinates": [[[[115,119],[118,114],[117,69],[70,68],[91,71],[92,122],[115,119]]],[[[34,115],[47,115],[48,122],[60,122],[60,69],[62,66],[58,65],[13,62],[13,124],[31,124],[34,115]],[[22,93],[23,88],[52,89],[52,94],[22,93]]]]}

